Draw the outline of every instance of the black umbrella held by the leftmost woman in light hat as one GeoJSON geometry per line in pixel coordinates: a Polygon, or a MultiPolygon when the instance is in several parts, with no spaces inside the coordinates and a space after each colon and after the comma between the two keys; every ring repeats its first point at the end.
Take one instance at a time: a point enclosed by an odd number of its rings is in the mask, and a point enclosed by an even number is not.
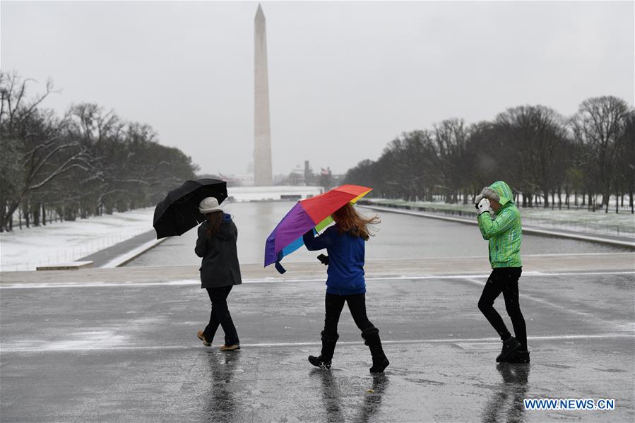
{"type": "Polygon", "coordinates": [[[182,235],[205,220],[198,211],[203,198],[214,197],[218,203],[227,198],[227,182],[218,179],[185,181],[157,204],[153,226],[157,239],[182,235]]]}

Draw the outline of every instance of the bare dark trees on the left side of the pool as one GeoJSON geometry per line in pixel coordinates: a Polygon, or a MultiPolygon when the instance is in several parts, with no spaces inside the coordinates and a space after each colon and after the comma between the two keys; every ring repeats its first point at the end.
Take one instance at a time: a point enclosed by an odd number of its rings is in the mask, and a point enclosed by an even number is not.
{"type": "Polygon", "coordinates": [[[0,232],[47,220],[153,205],[197,167],[177,148],[157,142],[150,126],[95,104],[59,117],[28,94],[32,81],[0,72],[0,232]],[[16,213],[18,212],[18,213],[16,213]]]}

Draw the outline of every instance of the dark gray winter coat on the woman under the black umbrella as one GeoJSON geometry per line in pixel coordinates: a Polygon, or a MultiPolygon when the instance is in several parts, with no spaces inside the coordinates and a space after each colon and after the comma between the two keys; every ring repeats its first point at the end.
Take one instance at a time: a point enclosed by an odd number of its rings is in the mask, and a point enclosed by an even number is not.
{"type": "Polygon", "coordinates": [[[227,285],[239,285],[240,266],[236,241],[238,230],[230,215],[225,214],[218,232],[208,238],[208,222],[198,227],[198,239],[194,252],[202,257],[201,288],[218,288],[227,285]]]}

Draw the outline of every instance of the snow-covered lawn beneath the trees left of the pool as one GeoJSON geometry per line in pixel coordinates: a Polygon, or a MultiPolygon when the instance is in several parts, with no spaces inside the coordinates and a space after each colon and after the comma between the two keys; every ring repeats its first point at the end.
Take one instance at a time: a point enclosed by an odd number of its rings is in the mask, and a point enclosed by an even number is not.
{"type": "Polygon", "coordinates": [[[0,270],[35,270],[66,263],[152,230],[154,208],[94,216],[74,222],[16,229],[0,234],[0,270]]]}

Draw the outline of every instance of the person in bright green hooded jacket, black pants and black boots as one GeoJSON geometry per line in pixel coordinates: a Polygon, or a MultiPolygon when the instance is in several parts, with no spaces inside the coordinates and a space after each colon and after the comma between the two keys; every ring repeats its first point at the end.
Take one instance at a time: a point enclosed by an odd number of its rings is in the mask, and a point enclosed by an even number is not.
{"type": "Polygon", "coordinates": [[[527,328],[518,303],[518,279],[523,269],[521,214],[514,205],[509,185],[504,181],[496,181],[483,188],[475,198],[475,206],[478,210],[478,227],[483,239],[489,242],[489,263],[492,264],[492,273],[478,300],[478,308],[503,341],[503,349],[496,361],[528,363],[527,328]],[[516,337],[509,333],[500,314],[494,309],[494,299],[501,292],[516,337]]]}

